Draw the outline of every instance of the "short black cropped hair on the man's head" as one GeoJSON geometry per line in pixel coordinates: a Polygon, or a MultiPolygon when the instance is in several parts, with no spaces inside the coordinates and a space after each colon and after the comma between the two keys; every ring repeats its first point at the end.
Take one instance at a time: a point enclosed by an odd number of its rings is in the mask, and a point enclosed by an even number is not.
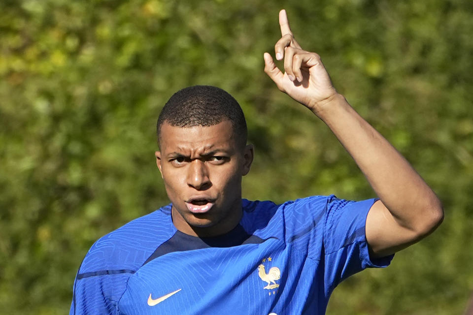
{"type": "Polygon", "coordinates": [[[241,145],[248,139],[245,117],[236,99],[224,90],[208,85],[196,85],[177,91],[164,105],[156,124],[158,144],[161,126],[214,126],[228,120],[241,145]]]}

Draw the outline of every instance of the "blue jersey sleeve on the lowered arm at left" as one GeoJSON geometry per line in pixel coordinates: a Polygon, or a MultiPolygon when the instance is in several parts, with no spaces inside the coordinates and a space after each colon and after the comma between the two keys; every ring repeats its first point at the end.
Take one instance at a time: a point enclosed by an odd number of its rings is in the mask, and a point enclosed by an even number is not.
{"type": "Polygon", "coordinates": [[[82,261],[69,315],[118,315],[118,304],[135,274],[157,246],[174,233],[170,205],[102,236],[82,261]],[[168,222],[163,227],[163,222],[168,222]]]}

